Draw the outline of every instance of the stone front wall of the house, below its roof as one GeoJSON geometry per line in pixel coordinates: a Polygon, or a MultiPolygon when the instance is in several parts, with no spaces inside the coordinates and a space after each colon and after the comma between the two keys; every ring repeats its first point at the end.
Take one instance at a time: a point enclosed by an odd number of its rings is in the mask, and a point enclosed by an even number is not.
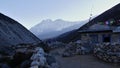
{"type": "Polygon", "coordinates": [[[81,34],[81,41],[82,43],[88,43],[88,44],[97,44],[93,43],[91,35],[97,35],[98,42],[97,43],[104,43],[103,42],[103,35],[110,35],[110,43],[120,43],[120,34],[115,33],[84,33],[81,34]]]}

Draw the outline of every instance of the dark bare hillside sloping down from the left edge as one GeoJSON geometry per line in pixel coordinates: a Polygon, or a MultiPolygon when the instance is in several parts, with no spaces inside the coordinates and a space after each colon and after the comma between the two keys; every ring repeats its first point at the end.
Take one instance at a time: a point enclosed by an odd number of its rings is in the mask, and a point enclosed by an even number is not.
{"type": "Polygon", "coordinates": [[[36,43],[40,40],[17,21],[0,13],[0,45],[36,43]]]}

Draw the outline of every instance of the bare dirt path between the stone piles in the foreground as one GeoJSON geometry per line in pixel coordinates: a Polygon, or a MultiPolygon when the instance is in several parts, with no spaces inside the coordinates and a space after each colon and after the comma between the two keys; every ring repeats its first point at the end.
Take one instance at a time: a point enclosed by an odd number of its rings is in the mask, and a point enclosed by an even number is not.
{"type": "MultiPolygon", "coordinates": [[[[63,49],[62,49],[63,50],[63,49]]],[[[61,49],[52,52],[63,52],[61,49]]],[[[55,53],[56,54],[56,53],[55,53]]],[[[61,68],[120,68],[120,65],[106,63],[92,55],[79,55],[74,57],[56,56],[61,68]]]]}

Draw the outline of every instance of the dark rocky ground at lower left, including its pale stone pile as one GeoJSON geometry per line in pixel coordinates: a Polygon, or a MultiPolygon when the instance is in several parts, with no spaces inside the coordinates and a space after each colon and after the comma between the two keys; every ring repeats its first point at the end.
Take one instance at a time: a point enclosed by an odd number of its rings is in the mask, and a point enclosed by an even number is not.
{"type": "Polygon", "coordinates": [[[54,68],[57,63],[47,51],[49,50],[42,43],[2,46],[0,68],[54,68]]]}

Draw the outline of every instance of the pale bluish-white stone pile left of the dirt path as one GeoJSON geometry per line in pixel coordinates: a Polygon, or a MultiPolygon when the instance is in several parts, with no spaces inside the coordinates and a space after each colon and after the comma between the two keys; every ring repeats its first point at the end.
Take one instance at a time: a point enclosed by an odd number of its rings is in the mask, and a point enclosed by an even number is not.
{"type": "Polygon", "coordinates": [[[35,49],[30,60],[32,61],[30,68],[59,68],[56,60],[52,56],[46,54],[40,47],[35,49]]]}

